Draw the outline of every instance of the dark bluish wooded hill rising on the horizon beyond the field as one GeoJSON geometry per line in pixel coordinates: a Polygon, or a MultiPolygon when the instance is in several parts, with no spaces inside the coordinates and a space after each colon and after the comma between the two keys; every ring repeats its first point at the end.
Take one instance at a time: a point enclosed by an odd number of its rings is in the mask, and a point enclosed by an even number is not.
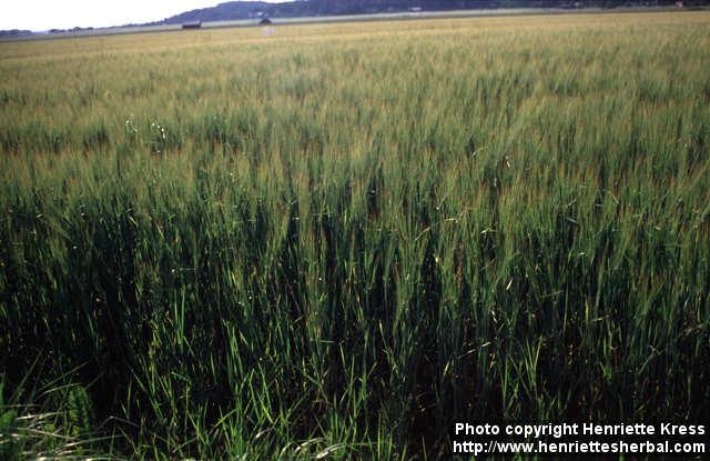
{"type": "MultiPolygon", "coordinates": [[[[185,11],[151,24],[191,21],[232,21],[262,17],[372,14],[402,11],[446,11],[497,8],[617,8],[673,6],[678,0],[295,0],[282,3],[229,1],[212,8],[185,11]]],[[[684,0],[686,7],[709,4],[710,0],[684,0]]]]}

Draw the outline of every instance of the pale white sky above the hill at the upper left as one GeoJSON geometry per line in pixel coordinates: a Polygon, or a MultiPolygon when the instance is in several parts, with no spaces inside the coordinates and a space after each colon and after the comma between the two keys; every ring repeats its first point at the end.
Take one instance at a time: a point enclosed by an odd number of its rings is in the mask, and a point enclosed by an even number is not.
{"type": "Polygon", "coordinates": [[[149,22],[224,1],[226,0],[0,0],[0,30],[39,31],[75,26],[105,27],[149,22]]]}

